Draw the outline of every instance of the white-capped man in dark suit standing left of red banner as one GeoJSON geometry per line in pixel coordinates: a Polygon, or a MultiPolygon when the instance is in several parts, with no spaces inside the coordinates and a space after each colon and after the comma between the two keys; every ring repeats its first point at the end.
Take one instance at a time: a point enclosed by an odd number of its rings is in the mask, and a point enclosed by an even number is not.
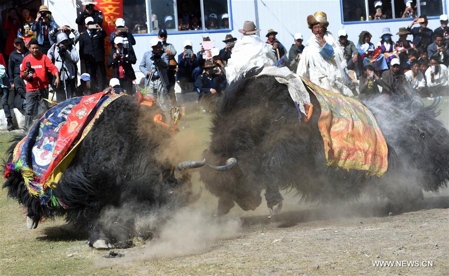
{"type": "Polygon", "coordinates": [[[106,84],[106,67],[104,66],[104,37],[106,32],[100,25],[94,23],[92,17],[84,19],[86,31],[79,35],[79,57],[86,65],[92,84],[90,92],[102,91],[106,84]],[[95,85],[98,90],[94,91],[95,85]]]}

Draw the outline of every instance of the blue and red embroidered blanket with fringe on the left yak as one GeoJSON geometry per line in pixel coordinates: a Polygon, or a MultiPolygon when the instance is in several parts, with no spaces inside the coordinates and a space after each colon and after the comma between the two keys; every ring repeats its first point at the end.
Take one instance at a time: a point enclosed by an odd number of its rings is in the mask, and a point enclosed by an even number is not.
{"type": "Polygon", "coordinates": [[[120,94],[105,92],[74,97],[48,109],[14,148],[4,176],[22,174],[28,192],[42,205],[63,205],[52,189],[104,108],[120,94]]]}

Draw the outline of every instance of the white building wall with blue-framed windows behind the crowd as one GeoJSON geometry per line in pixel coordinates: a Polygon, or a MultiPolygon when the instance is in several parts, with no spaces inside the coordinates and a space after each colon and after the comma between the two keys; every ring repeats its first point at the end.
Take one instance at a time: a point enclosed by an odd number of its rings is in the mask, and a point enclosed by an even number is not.
{"type": "MultiPolygon", "coordinates": [[[[253,20],[261,28],[260,35],[265,38],[268,29],[273,28],[278,32],[277,38],[285,45],[287,50],[293,43],[293,34],[301,32],[307,40],[311,31],[307,26],[306,17],[315,11],[327,13],[329,30],[337,34],[340,28],[347,30],[349,39],[357,44],[359,33],[368,30],[373,34],[372,42],[377,43],[382,28],[390,27],[395,34],[400,27],[407,27],[412,21],[411,18],[401,18],[406,7],[404,0],[384,0],[384,13],[391,19],[369,20],[370,14],[375,13],[375,0],[97,0],[100,2],[120,2],[123,7],[123,17],[128,28],[134,28],[136,22],[141,23],[140,31],[148,33],[135,33],[136,45],[134,46],[137,63],[135,70],[143,53],[149,50],[149,41],[157,35],[157,25],[164,27],[164,21],[172,21],[174,26],[181,22],[181,14],[189,16],[196,14],[202,26],[207,25],[207,18],[211,13],[218,17],[219,26],[221,16],[224,13],[229,15],[229,27],[214,30],[178,30],[168,29],[168,42],[174,44],[178,54],[183,51],[183,41],[190,39],[193,42],[193,50],[200,50],[200,43],[203,36],[209,36],[218,48],[223,48],[222,42],[227,33],[234,37],[240,37],[238,29],[242,27],[245,20],[253,20]],[[183,12],[184,10],[184,12],[183,12]],[[152,16],[154,14],[156,16],[152,16]],[[179,15],[179,16],[178,16],[179,15]],[[360,17],[359,17],[360,15],[360,17]],[[167,17],[168,16],[168,17],[167,17]],[[157,19],[156,19],[157,17],[157,19]],[[362,18],[363,17],[363,18],[362,18]],[[171,19],[170,19],[171,18],[171,19]],[[367,20],[368,18],[368,20],[367,20]],[[361,20],[362,19],[362,20],[361,20]],[[357,21],[351,21],[357,20],[357,21]],[[147,22],[151,22],[148,24],[147,22]],[[145,30],[146,29],[146,30],[145,30]]],[[[53,12],[53,17],[59,25],[67,24],[76,27],[76,5],[74,0],[44,0],[49,9],[53,12]]],[[[76,1],[79,5],[79,0],[76,1]]],[[[439,16],[447,14],[449,0],[413,0],[416,4],[416,13],[425,14],[429,18],[429,27],[435,29],[440,26],[439,16]]],[[[99,4],[98,4],[99,5],[99,4]]],[[[213,15],[212,15],[213,16],[213,15]]],[[[110,20],[105,14],[105,20],[110,20]]],[[[393,36],[393,40],[398,40],[399,36],[393,36]]],[[[412,39],[412,36],[409,36],[412,39]]]]}

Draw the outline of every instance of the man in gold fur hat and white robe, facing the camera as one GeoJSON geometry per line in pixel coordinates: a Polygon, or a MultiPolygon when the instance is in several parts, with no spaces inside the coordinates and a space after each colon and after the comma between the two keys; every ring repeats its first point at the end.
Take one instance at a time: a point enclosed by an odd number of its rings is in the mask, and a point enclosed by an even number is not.
{"type": "Polygon", "coordinates": [[[307,16],[307,24],[313,34],[306,42],[297,74],[310,78],[325,89],[352,96],[345,71],[344,52],[332,33],[327,30],[329,22],[326,13],[317,11],[314,15],[307,16]]]}

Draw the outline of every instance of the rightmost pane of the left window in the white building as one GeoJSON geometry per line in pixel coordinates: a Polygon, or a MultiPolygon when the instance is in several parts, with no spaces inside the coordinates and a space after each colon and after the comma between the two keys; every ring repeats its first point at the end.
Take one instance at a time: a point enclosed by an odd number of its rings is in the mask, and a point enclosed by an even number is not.
{"type": "Polygon", "coordinates": [[[204,0],[206,29],[229,29],[228,0],[204,0]]]}

